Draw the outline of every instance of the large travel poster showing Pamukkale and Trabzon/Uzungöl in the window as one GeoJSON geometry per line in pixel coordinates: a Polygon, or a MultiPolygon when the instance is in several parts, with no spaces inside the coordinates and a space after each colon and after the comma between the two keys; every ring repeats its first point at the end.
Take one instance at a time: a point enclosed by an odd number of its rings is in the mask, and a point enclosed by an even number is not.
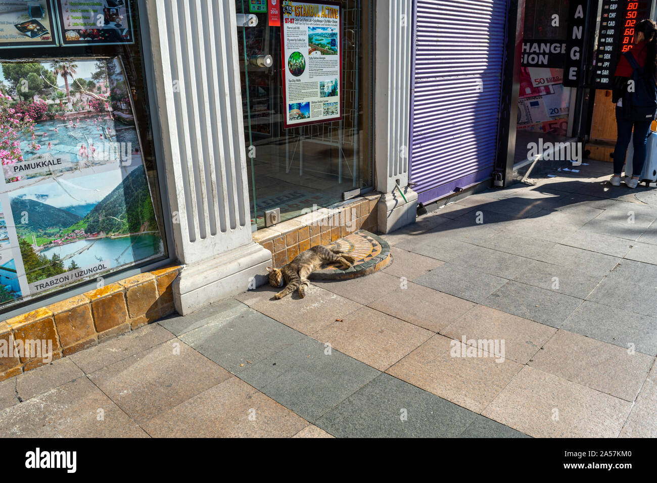
{"type": "Polygon", "coordinates": [[[120,58],[0,60],[0,93],[0,306],[160,258],[120,58]]]}

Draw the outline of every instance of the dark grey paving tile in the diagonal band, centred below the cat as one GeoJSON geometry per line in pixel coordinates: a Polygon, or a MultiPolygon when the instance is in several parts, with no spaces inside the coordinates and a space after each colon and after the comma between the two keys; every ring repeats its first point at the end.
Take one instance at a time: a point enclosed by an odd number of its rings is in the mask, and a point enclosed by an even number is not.
{"type": "Polygon", "coordinates": [[[240,379],[311,423],[380,374],[307,338],[249,365],[240,379]]]}

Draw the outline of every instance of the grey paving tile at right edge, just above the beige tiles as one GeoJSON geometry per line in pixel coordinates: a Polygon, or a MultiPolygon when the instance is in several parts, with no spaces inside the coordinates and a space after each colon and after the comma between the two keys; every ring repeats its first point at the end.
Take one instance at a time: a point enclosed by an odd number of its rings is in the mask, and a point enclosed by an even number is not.
{"type": "Polygon", "coordinates": [[[561,328],[626,350],[657,355],[657,319],[648,315],[585,301],[561,328]]]}

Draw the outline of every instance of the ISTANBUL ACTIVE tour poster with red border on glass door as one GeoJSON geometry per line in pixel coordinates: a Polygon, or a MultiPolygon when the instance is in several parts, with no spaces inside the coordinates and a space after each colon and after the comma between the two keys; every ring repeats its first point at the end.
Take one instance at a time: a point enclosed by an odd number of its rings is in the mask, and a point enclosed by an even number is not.
{"type": "Polygon", "coordinates": [[[284,1],[281,12],[284,127],[342,119],[340,4],[284,1]]]}

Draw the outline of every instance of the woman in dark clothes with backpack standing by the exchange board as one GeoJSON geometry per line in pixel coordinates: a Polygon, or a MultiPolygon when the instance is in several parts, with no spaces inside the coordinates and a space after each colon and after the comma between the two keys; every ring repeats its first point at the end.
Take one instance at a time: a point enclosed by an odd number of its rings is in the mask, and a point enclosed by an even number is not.
{"type": "MultiPolygon", "coordinates": [[[[657,59],[657,26],[655,22],[646,18],[641,20],[635,26],[634,45],[629,49],[636,63],[643,69],[644,78],[654,83],[657,59]]],[[[639,175],[643,170],[643,164],[646,160],[646,141],[648,140],[648,131],[654,116],[650,120],[631,120],[627,119],[623,112],[623,102],[628,103],[627,81],[634,72],[630,62],[623,55],[618,62],[616,72],[614,72],[614,91],[612,102],[616,104],[616,126],[618,126],[618,139],[614,149],[614,175],[610,182],[614,186],[620,186],[621,173],[625,164],[625,153],[629,146],[629,140],[632,137],[634,128],[633,146],[634,158],[632,162],[632,177],[625,179],[628,188],[636,188],[639,184],[639,175]]],[[[627,106],[625,106],[627,107],[627,106]]]]}

